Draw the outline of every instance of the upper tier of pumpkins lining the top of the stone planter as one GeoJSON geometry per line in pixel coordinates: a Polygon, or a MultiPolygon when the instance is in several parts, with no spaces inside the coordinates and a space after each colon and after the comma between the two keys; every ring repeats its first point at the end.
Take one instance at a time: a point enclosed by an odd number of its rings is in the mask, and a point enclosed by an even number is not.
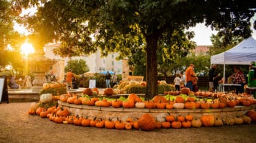
{"type": "MultiPolygon", "coordinates": [[[[83,91],[83,94],[88,96],[79,96],[76,94],[62,94],[60,96],[60,100],[62,102],[68,102],[70,104],[84,104],[89,106],[98,106],[98,107],[114,107],[114,108],[147,108],[147,109],[222,109],[225,107],[235,107],[236,105],[244,105],[250,106],[251,104],[255,104],[256,100],[253,98],[228,98],[219,97],[216,99],[212,99],[211,102],[208,100],[200,100],[196,101],[194,97],[188,97],[184,99],[182,96],[175,96],[175,100],[167,100],[165,96],[154,96],[152,100],[143,101],[136,94],[129,94],[128,98],[125,100],[107,100],[107,98],[95,97],[98,95],[98,89],[89,89],[86,88],[83,91]],[[94,96],[90,98],[90,96],[94,96]]],[[[113,89],[108,88],[104,90],[105,95],[112,95],[113,89]]],[[[191,95],[190,89],[183,88],[181,89],[181,94],[191,95]]]]}

